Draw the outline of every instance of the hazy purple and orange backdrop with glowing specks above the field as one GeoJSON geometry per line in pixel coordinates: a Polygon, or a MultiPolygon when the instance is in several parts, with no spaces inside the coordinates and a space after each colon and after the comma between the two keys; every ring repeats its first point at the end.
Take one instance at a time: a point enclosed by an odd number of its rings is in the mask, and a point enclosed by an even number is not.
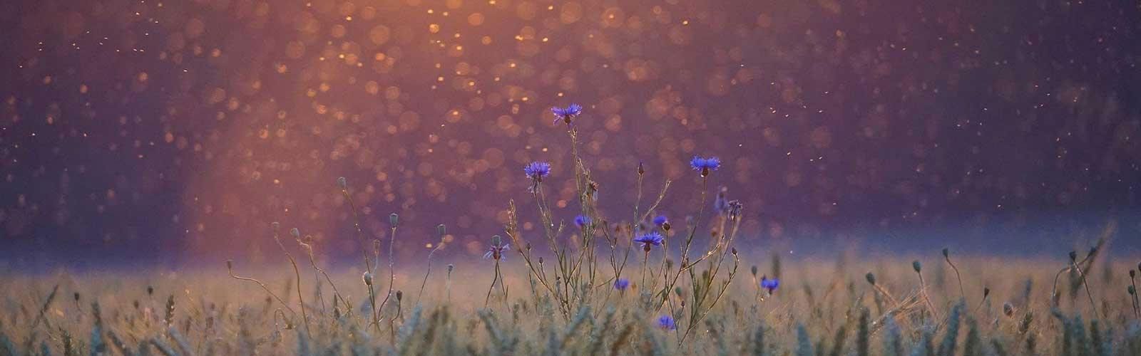
{"type": "Polygon", "coordinates": [[[535,220],[532,160],[574,218],[569,103],[613,221],[638,162],[683,221],[717,155],[743,250],[1065,256],[1116,219],[1135,257],[1139,31],[1136,1],[17,0],[0,266],[276,259],[270,221],[355,257],[340,176],[400,256],[437,224],[478,256],[509,199],[535,220]]]}

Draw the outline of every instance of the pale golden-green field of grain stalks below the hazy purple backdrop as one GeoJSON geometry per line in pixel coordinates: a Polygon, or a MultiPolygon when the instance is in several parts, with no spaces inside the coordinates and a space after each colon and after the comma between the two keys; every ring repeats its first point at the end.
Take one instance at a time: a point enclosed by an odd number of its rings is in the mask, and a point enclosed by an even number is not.
{"type": "MultiPolygon", "coordinates": [[[[759,274],[771,275],[764,260],[754,260],[759,274]]],[[[259,281],[268,292],[217,269],[5,275],[3,285],[18,288],[2,292],[0,355],[1141,355],[1131,282],[1117,273],[1135,266],[1087,269],[1094,312],[1081,281],[1068,275],[1054,305],[1051,269],[1065,260],[956,262],[969,296],[960,294],[950,268],[932,267],[929,310],[908,259],[785,260],[782,280],[790,282],[769,294],[742,276],[685,340],[689,314],[673,313],[678,330],[661,327],[670,312],[647,307],[638,283],[596,294],[567,318],[526,275],[508,272],[511,296],[496,288],[485,308],[492,273],[478,262],[458,266],[450,281],[432,277],[420,304],[394,296],[379,313],[379,331],[361,269],[331,274],[345,293],[337,304],[317,301],[333,293],[327,281],[318,292],[311,275],[302,278],[304,307],[296,276],[283,273],[290,265],[246,268],[267,276],[259,281]]],[[[520,265],[507,261],[504,270],[520,265]]],[[[396,288],[416,289],[421,277],[422,270],[402,270],[396,288]]],[[[681,297],[671,298],[680,305],[681,297]]]]}

